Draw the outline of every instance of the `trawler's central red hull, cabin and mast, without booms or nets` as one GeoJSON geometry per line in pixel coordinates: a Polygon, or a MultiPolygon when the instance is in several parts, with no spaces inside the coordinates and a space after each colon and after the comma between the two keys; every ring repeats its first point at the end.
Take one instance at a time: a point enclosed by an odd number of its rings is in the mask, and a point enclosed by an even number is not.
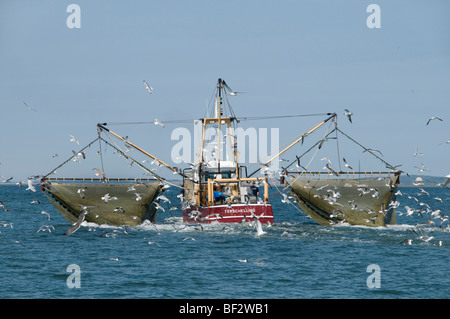
{"type": "Polygon", "coordinates": [[[227,95],[233,91],[218,80],[209,117],[199,120],[202,136],[195,162],[183,171],[182,214],[186,223],[240,223],[257,219],[273,223],[268,177],[247,177],[238,163],[235,126],[239,122],[227,95]],[[207,143],[208,128],[218,137],[207,143]],[[222,132],[226,142],[222,142],[222,132]],[[225,144],[225,150],[222,148],[225,144]],[[258,185],[263,185],[262,198],[258,185]]]}

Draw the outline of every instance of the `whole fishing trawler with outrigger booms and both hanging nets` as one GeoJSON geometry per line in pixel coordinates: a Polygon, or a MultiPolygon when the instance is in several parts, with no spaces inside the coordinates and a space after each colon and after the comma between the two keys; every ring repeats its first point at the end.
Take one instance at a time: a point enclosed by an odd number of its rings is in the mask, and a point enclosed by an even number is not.
{"type": "MultiPolygon", "coordinates": [[[[154,222],[158,204],[158,194],[167,182],[138,161],[129,157],[126,152],[103,139],[100,134],[108,133],[121,140],[125,146],[132,147],[153,159],[159,166],[170,169],[182,177],[181,199],[182,218],[185,223],[241,223],[255,222],[272,224],[274,221],[272,205],[269,202],[269,174],[265,170],[282,154],[302,143],[305,137],[317,131],[325,123],[335,123],[335,128],[323,139],[317,141],[307,152],[315,147],[322,147],[324,141],[333,132],[361,146],[364,152],[372,154],[391,168],[390,172],[343,172],[333,171],[328,165],[327,172],[291,171],[289,166],[283,168],[280,182],[286,187],[279,191],[289,190],[298,206],[313,220],[321,225],[332,225],[346,222],[351,225],[386,226],[395,223],[395,190],[399,183],[400,171],[389,165],[371,149],[365,148],[337,127],[336,113],[326,113],[327,118],[309,131],[296,138],[283,150],[252,172],[247,173],[247,166],[238,161],[236,126],[240,119],[235,115],[229,101],[229,95],[236,95],[227,83],[218,79],[209,114],[195,123],[201,124],[201,141],[194,163],[189,168],[179,169],[161,161],[154,155],[144,151],[130,142],[128,137],[107,128],[107,123],[97,124],[98,141],[105,142],[115,148],[123,157],[152,174],[155,179],[143,184],[136,180],[106,179],[104,176],[97,182],[89,179],[50,179],[47,174],[42,179],[42,190],[52,204],[70,221],[76,221],[80,214],[87,221],[112,225],[137,225],[145,219],[154,222]],[[211,136],[215,136],[212,139],[211,136]],[[223,147],[225,146],[225,147],[223,147]],[[263,171],[262,177],[253,177],[263,171]],[[265,171],[265,173],[264,173],[265,171]],[[361,175],[363,175],[361,177],[361,175]],[[113,185],[114,184],[114,185],[113,185]],[[259,188],[262,186],[262,195],[259,188]],[[137,189],[137,188],[138,189],[137,189]],[[129,189],[135,189],[129,192],[129,189]],[[136,194],[141,194],[137,201],[136,194]],[[141,200],[140,199],[140,200],[141,200]],[[85,214],[89,212],[91,214],[85,214]]],[[[296,115],[309,116],[309,115],[296,115]]],[[[286,118],[286,116],[280,116],[286,118]]],[[[290,116],[293,117],[293,116],[290,116]]],[[[271,117],[275,118],[275,117],[271,117]]],[[[145,123],[145,122],[142,122],[145,123]]],[[[330,124],[331,125],[331,124],[330,124]]],[[[95,141],[91,142],[94,143],[95,141]]],[[[89,147],[89,144],[87,147],[89,147]]],[[[86,147],[86,148],[87,148],[86,147]]],[[[304,156],[296,156],[297,161],[304,156]]],[[[70,161],[68,159],[65,163],[70,161]]],[[[61,164],[60,166],[64,165],[61,164]]],[[[298,162],[300,168],[300,163],[298,162]]],[[[102,174],[102,172],[100,172],[102,174]]],[[[283,195],[285,195],[283,193],[283,195]]]]}

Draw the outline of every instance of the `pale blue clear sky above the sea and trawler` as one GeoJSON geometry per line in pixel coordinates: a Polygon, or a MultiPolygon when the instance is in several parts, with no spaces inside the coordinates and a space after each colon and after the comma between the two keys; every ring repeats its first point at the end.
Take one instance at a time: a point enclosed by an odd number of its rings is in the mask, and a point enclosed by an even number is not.
{"type": "MultiPolygon", "coordinates": [[[[336,112],[343,131],[393,165],[450,174],[450,144],[440,144],[450,140],[449,15],[445,0],[3,0],[0,175],[47,173],[76,150],[69,135],[85,145],[97,122],[201,117],[219,77],[246,92],[232,98],[238,115],[336,112]],[[66,26],[71,3],[81,8],[80,29],[66,26]],[[371,3],[381,8],[380,29],[366,25],[371,3]],[[443,121],[427,126],[431,116],[443,121]],[[423,156],[412,155],[417,148],[423,156]]],[[[322,119],[243,125],[278,127],[283,144],[322,119]]],[[[111,129],[170,163],[176,127],[111,129]]],[[[341,156],[371,168],[344,144],[341,156]]],[[[118,167],[115,175],[129,175],[118,167]]]]}

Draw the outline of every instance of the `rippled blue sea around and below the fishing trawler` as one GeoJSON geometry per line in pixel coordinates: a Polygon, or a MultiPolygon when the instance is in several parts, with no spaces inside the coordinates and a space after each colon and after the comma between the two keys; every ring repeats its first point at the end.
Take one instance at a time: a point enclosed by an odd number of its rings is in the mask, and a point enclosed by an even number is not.
{"type": "MultiPolygon", "coordinates": [[[[448,221],[417,226],[431,213],[405,205],[450,214],[450,190],[424,190],[400,188],[388,227],[319,226],[271,189],[275,222],[260,237],[249,224],[185,225],[170,206],[156,224],[64,236],[71,225],[39,190],[0,186],[0,298],[447,299],[448,221]]],[[[177,194],[165,193],[179,206],[177,194]]]]}

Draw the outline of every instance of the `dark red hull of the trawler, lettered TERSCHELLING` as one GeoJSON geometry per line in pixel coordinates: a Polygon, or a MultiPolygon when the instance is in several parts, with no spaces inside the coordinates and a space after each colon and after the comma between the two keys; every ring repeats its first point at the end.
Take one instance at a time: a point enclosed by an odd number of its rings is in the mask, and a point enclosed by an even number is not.
{"type": "Polygon", "coordinates": [[[217,205],[210,207],[192,206],[183,210],[183,221],[188,224],[209,224],[219,223],[240,223],[242,221],[253,221],[252,213],[259,217],[261,223],[273,224],[272,205],[270,204],[238,204],[238,205],[217,205]]]}

